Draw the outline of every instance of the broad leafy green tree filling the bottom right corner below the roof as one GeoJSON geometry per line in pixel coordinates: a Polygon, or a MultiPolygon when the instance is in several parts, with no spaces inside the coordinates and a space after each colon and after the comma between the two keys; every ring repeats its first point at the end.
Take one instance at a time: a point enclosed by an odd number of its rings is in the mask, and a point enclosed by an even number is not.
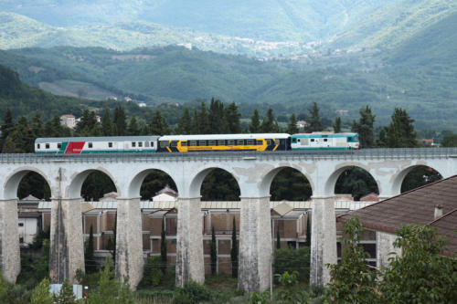
{"type": "Polygon", "coordinates": [[[429,225],[407,225],[397,231],[394,246],[401,256],[390,258],[379,283],[382,303],[454,303],[457,259],[442,255],[447,242],[429,225]]]}

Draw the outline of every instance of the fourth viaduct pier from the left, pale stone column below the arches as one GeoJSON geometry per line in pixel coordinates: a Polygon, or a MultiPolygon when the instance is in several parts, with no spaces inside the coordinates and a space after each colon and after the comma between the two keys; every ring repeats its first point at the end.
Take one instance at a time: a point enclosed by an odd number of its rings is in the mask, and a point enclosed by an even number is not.
{"type": "Polygon", "coordinates": [[[188,280],[203,284],[202,215],[200,198],[179,198],[177,204],[176,286],[188,280]]]}

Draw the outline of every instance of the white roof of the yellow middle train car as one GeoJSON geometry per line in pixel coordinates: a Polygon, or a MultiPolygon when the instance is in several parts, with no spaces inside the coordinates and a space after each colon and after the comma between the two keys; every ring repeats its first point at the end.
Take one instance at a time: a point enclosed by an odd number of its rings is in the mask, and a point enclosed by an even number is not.
{"type": "Polygon", "coordinates": [[[159,141],[199,141],[199,140],[256,140],[261,138],[286,139],[287,133],[244,133],[244,134],[202,134],[202,135],[165,135],[159,141]]]}

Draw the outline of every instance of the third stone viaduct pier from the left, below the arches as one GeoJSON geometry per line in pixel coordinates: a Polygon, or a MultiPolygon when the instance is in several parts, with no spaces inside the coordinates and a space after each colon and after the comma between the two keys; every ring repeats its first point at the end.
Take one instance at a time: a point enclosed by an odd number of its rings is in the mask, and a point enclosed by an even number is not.
{"type": "Polygon", "coordinates": [[[143,278],[143,227],[140,198],[117,198],[116,277],[136,289],[143,278]]]}

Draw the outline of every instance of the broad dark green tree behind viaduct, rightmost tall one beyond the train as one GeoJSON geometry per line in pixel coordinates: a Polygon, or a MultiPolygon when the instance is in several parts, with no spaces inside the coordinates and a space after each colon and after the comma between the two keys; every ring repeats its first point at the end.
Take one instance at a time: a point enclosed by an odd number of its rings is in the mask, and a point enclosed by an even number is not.
{"type": "Polygon", "coordinates": [[[388,148],[414,148],[418,146],[414,120],[409,118],[406,110],[395,108],[386,131],[388,148]]]}

